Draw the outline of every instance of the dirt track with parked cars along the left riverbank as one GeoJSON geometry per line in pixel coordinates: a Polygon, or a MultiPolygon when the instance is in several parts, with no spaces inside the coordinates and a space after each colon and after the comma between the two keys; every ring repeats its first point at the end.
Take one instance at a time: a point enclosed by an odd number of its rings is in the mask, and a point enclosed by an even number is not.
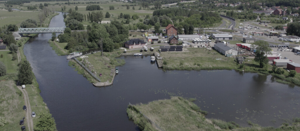
{"type": "Polygon", "coordinates": [[[22,93],[24,95],[25,105],[27,107],[26,115],[25,115],[25,118],[26,118],[25,123],[27,123],[26,128],[29,131],[33,131],[33,120],[31,117],[32,110],[31,110],[31,105],[29,103],[29,97],[28,97],[27,91],[26,91],[26,89],[22,89],[21,86],[18,86],[18,88],[22,91],[22,93]]]}

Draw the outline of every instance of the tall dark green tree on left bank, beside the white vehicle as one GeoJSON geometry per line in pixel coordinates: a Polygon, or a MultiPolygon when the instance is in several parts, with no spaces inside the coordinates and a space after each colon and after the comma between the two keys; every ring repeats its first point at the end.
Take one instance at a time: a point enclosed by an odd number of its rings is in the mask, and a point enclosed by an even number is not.
{"type": "Polygon", "coordinates": [[[30,63],[24,60],[19,63],[18,81],[21,84],[31,84],[33,80],[33,73],[30,63]]]}

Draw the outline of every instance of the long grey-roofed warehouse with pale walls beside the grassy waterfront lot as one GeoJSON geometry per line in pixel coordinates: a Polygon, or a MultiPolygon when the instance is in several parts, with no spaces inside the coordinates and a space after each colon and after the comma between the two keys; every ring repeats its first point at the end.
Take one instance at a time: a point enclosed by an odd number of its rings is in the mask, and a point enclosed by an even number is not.
{"type": "Polygon", "coordinates": [[[234,50],[223,43],[214,44],[214,49],[222,53],[226,57],[238,55],[238,51],[234,50]]]}

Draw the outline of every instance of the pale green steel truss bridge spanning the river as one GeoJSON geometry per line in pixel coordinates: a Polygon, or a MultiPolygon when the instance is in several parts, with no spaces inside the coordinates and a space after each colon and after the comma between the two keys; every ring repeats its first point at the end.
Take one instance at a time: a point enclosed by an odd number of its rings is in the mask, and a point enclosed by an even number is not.
{"type": "Polygon", "coordinates": [[[64,27],[53,28],[19,28],[19,34],[63,33],[64,27]]]}

